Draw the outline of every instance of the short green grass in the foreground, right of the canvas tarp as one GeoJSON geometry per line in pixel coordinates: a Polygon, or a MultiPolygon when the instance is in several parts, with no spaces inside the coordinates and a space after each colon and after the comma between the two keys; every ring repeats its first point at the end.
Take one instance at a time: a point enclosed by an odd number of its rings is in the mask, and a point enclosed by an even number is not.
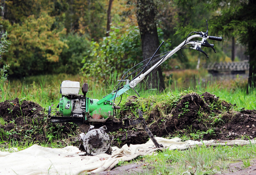
{"type": "Polygon", "coordinates": [[[196,146],[184,151],[165,150],[137,158],[147,166],[141,174],[219,174],[231,162],[242,161],[244,168],[256,156],[256,145],[196,146]]]}

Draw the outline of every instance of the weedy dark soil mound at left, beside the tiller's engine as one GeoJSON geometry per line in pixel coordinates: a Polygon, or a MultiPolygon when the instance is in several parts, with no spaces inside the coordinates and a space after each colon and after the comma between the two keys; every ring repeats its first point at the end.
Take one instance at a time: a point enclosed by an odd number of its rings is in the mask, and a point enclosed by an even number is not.
{"type": "Polygon", "coordinates": [[[40,105],[15,98],[0,103],[1,142],[48,143],[53,139],[68,138],[77,130],[74,124],[49,124],[40,105]]]}

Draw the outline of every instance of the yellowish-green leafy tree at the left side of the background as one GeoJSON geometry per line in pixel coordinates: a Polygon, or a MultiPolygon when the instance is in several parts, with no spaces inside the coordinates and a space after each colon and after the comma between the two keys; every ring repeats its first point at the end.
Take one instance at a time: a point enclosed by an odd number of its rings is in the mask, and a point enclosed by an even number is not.
{"type": "Polygon", "coordinates": [[[47,65],[58,61],[62,49],[67,47],[60,40],[65,29],[52,29],[54,21],[54,17],[45,12],[39,18],[29,16],[21,25],[1,21],[11,31],[8,37],[12,47],[3,58],[3,63],[10,65],[10,75],[26,76],[51,71],[47,65]]]}

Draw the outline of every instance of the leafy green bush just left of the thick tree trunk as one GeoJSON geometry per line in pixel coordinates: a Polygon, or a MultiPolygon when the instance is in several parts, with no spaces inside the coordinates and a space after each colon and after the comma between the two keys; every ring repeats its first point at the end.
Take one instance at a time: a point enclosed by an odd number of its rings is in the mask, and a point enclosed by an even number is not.
{"type": "Polygon", "coordinates": [[[109,37],[101,42],[92,41],[89,55],[84,57],[82,74],[101,79],[113,73],[126,72],[135,61],[141,60],[140,34],[138,27],[130,27],[122,35],[115,27],[109,37]]]}

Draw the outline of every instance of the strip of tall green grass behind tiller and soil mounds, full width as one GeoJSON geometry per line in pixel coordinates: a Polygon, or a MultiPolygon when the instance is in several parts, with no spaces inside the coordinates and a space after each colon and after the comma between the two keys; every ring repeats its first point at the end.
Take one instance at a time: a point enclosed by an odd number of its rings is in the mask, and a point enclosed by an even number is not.
{"type": "MultiPolygon", "coordinates": [[[[187,75],[188,76],[188,75],[187,75]]],[[[194,76],[194,75],[191,75],[194,76]]],[[[27,99],[40,104],[42,107],[49,105],[57,105],[59,98],[61,97],[59,90],[60,84],[63,80],[79,81],[80,86],[84,82],[89,84],[89,91],[87,96],[90,98],[101,99],[103,96],[110,93],[113,87],[118,83],[116,80],[117,76],[110,76],[109,80],[95,80],[94,78],[82,77],[81,75],[43,75],[43,76],[32,76],[23,79],[10,79],[9,82],[5,82],[0,85],[0,101],[12,100],[16,97],[20,99],[27,99]]],[[[181,77],[182,78],[182,77],[181,77]]],[[[186,77],[188,78],[188,77],[186,77]]],[[[238,107],[245,109],[256,108],[256,90],[250,89],[249,94],[245,90],[245,80],[242,80],[237,76],[237,79],[224,82],[216,82],[214,80],[203,83],[202,79],[193,78],[190,80],[191,87],[188,88],[177,87],[174,80],[172,85],[166,85],[166,91],[173,93],[180,93],[184,90],[193,90],[197,93],[210,92],[219,96],[220,99],[236,104],[238,107]]],[[[139,90],[142,97],[148,97],[159,94],[156,90],[139,90]]],[[[123,95],[123,99],[126,96],[136,95],[133,90],[129,90],[123,95]]],[[[117,99],[118,100],[118,99],[117,99]]]]}

